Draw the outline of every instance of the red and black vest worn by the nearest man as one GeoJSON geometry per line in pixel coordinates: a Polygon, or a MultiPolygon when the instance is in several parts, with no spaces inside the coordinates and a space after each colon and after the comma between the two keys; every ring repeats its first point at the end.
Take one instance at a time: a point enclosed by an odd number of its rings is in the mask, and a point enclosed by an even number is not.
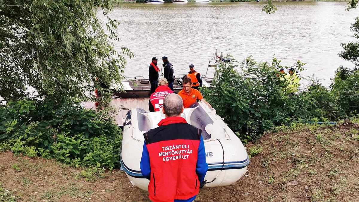
{"type": "Polygon", "coordinates": [[[196,196],[200,186],[196,164],[201,129],[181,117],[162,119],[158,125],[144,133],[151,167],[149,199],[164,202],[196,196]]]}

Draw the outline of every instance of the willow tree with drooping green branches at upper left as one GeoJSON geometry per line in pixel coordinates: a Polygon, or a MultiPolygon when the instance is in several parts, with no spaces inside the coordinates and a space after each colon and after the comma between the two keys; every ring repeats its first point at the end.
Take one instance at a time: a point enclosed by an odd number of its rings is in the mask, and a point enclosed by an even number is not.
{"type": "Polygon", "coordinates": [[[0,0],[0,97],[86,100],[87,92],[103,89],[101,82],[120,83],[125,56],[133,54],[126,47],[118,52],[112,42],[120,40],[119,22],[108,14],[119,3],[0,0]]]}

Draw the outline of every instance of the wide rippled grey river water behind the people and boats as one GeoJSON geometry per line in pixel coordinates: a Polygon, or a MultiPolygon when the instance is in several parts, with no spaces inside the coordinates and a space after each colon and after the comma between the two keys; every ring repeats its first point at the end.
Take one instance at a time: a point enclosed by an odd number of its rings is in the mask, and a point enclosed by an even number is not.
{"type": "Polygon", "coordinates": [[[175,74],[185,74],[194,64],[203,75],[216,49],[238,61],[249,55],[270,61],[274,54],[283,65],[301,60],[307,63],[302,75],[314,74],[326,86],[339,65],[354,66],[338,53],[341,43],[355,40],[350,26],[358,10],[345,11],[345,2],[275,5],[278,11],[269,15],[262,12],[264,3],[257,2],[122,4],[110,16],[121,22],[116,48],[128,47],[136,55],[127,60],[125,75],[148,78],[151,58],[162,56],[168,57],[175,74]]]}

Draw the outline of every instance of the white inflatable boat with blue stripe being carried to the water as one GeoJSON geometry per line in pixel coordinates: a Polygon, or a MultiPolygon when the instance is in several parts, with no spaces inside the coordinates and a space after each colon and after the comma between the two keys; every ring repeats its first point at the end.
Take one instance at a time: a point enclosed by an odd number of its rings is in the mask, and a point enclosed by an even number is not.
{"type": "MultiPolygon", "coordinates": [[[[247,171],[250,160],[241,140],[216,115],[216,110],[203,102],[188,108],[181,115],[187,123],[202,129],[208,171],[204,187],[225,186],[235,183],[247,171]],[[211,182],[212,181],[212,182],[211,182]]],[[[146,112],[143,109],[130,110],[124,120],[121,151],[121,167],[127,177],[143,190],[148,190],[149,180],[140,170],[144,137],[143,133],[157,128],[164,114],[160,111],[146,112]]]]}

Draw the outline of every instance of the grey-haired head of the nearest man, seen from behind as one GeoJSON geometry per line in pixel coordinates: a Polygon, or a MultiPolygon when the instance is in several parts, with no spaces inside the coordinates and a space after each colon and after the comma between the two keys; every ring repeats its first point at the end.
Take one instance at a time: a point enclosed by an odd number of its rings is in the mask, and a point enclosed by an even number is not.
{"type": "Polygon", "coordinates": [[[163,100],[164,113],[168,117],[178,116],[181,114],[183,107],[182,97],[172,93],[167,95],[163,100]]]}

